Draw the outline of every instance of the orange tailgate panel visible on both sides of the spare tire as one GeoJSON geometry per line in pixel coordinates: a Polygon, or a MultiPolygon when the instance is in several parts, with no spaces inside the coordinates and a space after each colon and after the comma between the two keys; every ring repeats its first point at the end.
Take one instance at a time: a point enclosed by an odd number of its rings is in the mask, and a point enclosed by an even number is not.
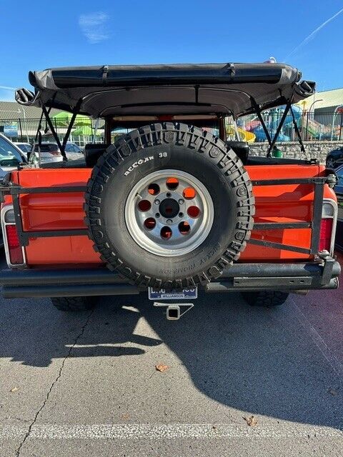
{"type": "MultiPolygon", "coordinates": [[[[254,185],[254,229],[241,262],[300,261],[317,253],[322,201],[336,201],[317,165],[247,166],[254,185]],[[317,245],[316,245],[317,243],[317,245]]],[[[91,169],[14,171],[19,237],[29,266],[101,263],[87,236],[84,191],[91,169]]],[[[6,197],[9,201],[9,197],[6,197]]],[[[14,208],[16,209],[16,208],[14,208]]]]}

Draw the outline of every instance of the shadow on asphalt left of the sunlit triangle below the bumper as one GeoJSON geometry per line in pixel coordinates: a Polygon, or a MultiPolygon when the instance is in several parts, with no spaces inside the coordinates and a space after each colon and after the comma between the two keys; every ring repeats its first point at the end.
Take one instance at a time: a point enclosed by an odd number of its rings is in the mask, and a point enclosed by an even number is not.
{"type": "Polygon", "coordinates": [[[82,341],[77,341],[70,357],[136,356],[145,352],[144,346],[161,344],[157,339],[134,335],[141,314],[121,308],[124,301],[106,303],[109,300],[114,302],[113,298],[99,299],[93,320],[89,311],[57,311],[50,300],[5,301],[0,307],[0,357],[29,366],[49,366],[52,358],[64,358],[80,336],[82,341]],[[129,341],[143,347],[120,346],[129,341]],[[114,343],[117,346],[106,346],[114,343]]]}

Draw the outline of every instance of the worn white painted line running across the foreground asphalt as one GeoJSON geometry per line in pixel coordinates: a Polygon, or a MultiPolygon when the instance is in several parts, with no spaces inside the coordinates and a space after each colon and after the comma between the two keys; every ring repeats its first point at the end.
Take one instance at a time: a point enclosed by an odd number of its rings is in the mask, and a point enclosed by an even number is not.
{"type": "MultiPolygon", "coordinates": [[[[20,438],[26,428],[0,428],[0,439],[20,438]]],[[[343,431],[329,427],[297,424],[259,425],[234,424],[110,424],[34,425],[29,439],[179,439],[179,438],[343,438],[343,431]]]]}

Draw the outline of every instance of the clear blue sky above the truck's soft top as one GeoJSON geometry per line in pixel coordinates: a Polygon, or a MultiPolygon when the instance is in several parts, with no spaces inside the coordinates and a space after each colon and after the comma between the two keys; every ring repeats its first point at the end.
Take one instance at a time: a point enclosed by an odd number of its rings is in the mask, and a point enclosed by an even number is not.
{"type": "Polygon", "coordinates": [[[341,9],[337,0],[0,0],[0,100],[13,99],[4,88],[29,87],[29,70],[51,66],[269,56],[287,58],[317,90],[342,87],[343,11],[311,35],[341,9]]]}

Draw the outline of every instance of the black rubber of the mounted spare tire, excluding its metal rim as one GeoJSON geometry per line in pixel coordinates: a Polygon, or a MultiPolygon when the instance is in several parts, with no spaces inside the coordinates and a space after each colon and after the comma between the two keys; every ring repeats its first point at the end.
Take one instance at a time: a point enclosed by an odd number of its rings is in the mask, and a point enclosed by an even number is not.
{"type": "Polygon", "coordinates": [[[179,123],[152,124],[121,136],[99,158],[85,200],[89,238],[101,260],[143,289],[194,287],[219,277],[247,246],[254,224],[252,183],[242,161],[216,136],[179,123]],[[214,201],[216,221],[199,247],[172,258],[141,248],[124,218],[133,186],[164,169],[179,169],[201,181],[214,201]]]}

